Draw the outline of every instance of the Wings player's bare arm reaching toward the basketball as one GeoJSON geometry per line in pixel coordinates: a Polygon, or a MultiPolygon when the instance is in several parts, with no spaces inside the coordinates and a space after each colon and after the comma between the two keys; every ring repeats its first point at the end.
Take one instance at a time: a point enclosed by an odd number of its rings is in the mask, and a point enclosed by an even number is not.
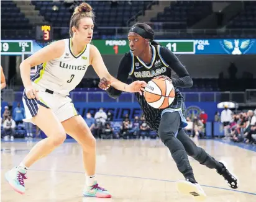
{"type": "Polygon", "coordinates": [[[117,90],[140,92],[140,94],[142,94],[144,87],[147,86],[145,81],[134,81],[132,84],[128,85],[111,76],[109,71],[107,71],[99,50],[93,45],[90,45],[90,64],[93,66],[94,71],[98,74],[100,79],[105,78],[109,84],[117,90]]]}

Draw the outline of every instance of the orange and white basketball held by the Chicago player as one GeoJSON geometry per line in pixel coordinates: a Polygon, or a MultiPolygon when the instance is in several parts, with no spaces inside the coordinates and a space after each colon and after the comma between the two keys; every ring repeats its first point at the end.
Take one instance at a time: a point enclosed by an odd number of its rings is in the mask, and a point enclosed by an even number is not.
{"type": "Polygon", "coordinates": [[[168,80],[152,79],[145,87],[144,97],[153,108],[167,108],[175,98],[175,89],[168,80]]]}

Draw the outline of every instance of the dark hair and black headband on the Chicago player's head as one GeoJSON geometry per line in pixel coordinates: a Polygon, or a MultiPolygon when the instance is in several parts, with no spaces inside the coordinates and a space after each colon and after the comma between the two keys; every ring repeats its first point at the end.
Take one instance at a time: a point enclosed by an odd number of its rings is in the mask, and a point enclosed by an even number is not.
{"type": "Polygon", "coordinates": [[[135,32],[141,37],[148,39],[152,45],[159,45],[159,43],[153,40],[155,37],[155,33],[148,24],[138,22],[132,26],[129,32],[135,32]]]}

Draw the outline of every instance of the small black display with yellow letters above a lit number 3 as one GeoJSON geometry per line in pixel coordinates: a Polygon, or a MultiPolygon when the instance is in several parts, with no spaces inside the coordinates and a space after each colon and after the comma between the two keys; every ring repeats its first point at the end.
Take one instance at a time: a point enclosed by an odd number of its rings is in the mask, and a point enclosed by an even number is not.
{"type": "Polygon", "coordinates": [[[35,38],[40,42],[49,42],[53,40],[52,25],[37,25],[35,35],[35,38]]]}

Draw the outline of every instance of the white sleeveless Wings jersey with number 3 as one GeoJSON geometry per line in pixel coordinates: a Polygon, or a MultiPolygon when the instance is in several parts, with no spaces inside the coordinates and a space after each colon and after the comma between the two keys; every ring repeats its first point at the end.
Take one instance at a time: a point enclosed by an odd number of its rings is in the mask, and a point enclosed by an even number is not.
{"type": "Polygon", "coordinates": [[[71,51],[71,39],[66,38],[63,41],[63,55],[41,64],[31,80],[46,89],[69,95],[69,92],[81,82],[89,66],[89,44],[75,56],[71,51]]]}

